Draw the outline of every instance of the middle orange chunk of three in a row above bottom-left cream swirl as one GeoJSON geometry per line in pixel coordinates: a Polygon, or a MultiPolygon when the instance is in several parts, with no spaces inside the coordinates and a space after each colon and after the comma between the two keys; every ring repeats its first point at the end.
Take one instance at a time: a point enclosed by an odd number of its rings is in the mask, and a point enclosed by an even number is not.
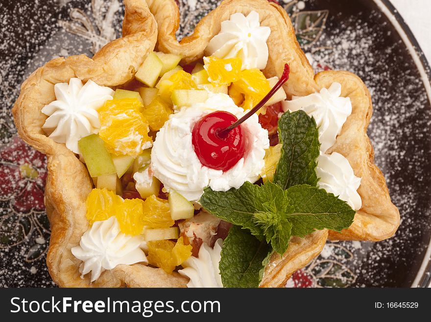
{"type": "Polygon", "coordinates": [[[144,229],[142,199],[125,199],[116,209],[120,230],[124,234],[139,235],[144,229]]]}

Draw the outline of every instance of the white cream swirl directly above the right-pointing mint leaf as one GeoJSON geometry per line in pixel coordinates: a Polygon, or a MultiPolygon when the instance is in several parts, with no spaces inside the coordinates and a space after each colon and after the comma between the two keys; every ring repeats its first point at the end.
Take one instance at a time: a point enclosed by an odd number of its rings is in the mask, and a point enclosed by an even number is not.
{"type": "Polygon", "coordinates": [[[346,201],[353,209],[359,210],[362,200],[358,194],[360,179],[353,173],[349,161],[337,152],[320,153],[318,158],[317,182],[319,188],[325,189],[341,200],[346,201]]]}

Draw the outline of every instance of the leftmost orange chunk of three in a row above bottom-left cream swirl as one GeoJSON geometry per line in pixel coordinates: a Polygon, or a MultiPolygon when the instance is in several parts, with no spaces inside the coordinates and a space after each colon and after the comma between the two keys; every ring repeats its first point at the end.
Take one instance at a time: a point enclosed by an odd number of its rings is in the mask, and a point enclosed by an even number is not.
{"type": "Polygon", "coordinates": [[[115,215],[122,200],[108,189],[93,189],[87,197],[86,217],[90,223],[106,220],[115,215]]]}

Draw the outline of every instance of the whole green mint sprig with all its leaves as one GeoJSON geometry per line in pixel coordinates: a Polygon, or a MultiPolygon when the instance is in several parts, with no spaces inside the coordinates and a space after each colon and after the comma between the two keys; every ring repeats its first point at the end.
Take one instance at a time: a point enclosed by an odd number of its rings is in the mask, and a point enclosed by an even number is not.
{"type": "Polygon", "coordinates": [[[318,189],[320,143],[313,118],[287,112],[279,120],[282,154],[274,183],[245,182],[226,192],[206,188],[199,202],[220,219],[233,223],[221,251],[219,269],[225,287],[257,287],[272,253],[283,255],[291,236],[316,229],[348,228],[355,211],[347,202],[318,189]]]}

